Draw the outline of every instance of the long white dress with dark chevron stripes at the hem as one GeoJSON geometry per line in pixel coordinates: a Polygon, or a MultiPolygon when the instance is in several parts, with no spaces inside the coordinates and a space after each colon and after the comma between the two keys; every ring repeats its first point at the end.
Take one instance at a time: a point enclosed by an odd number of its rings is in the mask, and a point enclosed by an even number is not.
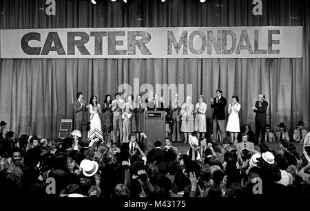
{"type": "Polygon", "coordinates": [[[88,131],[88,140],[93,140],[95,137],[98,137],[100,140],[103,140],[103,135],[101,131],[101,120],[99,116],[100,104],[97,104],[97,107],[93,107],[90,104],[90,131],[88,131]]]}

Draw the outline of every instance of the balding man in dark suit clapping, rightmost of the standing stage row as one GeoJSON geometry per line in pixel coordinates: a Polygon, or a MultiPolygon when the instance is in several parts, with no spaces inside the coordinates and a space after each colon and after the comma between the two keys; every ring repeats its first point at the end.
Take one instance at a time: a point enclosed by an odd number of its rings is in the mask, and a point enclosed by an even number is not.
{"type": "Polygon", "coordinates": [[[265,125],[266,125],[266,112],[267,112],[268,102],[265,101],[265,95],[259,94],[258,101],[255,102],[255,107],[252,107],[255,115],[255,143],[258,144],[260,137],[260,131],[262,133],[261,143],[265,142],[265,125]]]}

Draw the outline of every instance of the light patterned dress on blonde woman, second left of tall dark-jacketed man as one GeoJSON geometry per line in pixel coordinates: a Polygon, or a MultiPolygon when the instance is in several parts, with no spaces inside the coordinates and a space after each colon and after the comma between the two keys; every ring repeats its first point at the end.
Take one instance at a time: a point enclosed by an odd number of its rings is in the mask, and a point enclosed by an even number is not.
{"type": "Polygon", "coordinates": [[[185,103],[182,105],[180,115],[182,115],[182,124],[180,131],[183,133],[194,132],[194,104],[185,103]]]}

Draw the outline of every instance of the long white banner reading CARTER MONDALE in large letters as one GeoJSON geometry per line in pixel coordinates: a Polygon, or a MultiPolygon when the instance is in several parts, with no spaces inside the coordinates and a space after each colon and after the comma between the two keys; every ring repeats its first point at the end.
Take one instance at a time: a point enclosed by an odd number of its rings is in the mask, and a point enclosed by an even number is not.
{"type": "Polygon", "coordinates": [[[302,58],[302,27],[1,30],[0,58],[302,58]]]}

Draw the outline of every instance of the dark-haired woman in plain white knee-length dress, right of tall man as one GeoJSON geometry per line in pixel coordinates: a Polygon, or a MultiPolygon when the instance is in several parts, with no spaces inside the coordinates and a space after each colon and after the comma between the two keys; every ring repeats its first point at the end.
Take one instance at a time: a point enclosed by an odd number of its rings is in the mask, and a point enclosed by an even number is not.
{"type": "Polygon", "coordinates": [[[232,96],[232,102],[228,107],[228,121],[226,126],[226,131],[230,133],[231,140],[234,140],[234,144],[238,144],[238,133],[240,132],[239,123],[239,111],[241,109],[241,104],[239,102],[238,96],[232,96]]]}

